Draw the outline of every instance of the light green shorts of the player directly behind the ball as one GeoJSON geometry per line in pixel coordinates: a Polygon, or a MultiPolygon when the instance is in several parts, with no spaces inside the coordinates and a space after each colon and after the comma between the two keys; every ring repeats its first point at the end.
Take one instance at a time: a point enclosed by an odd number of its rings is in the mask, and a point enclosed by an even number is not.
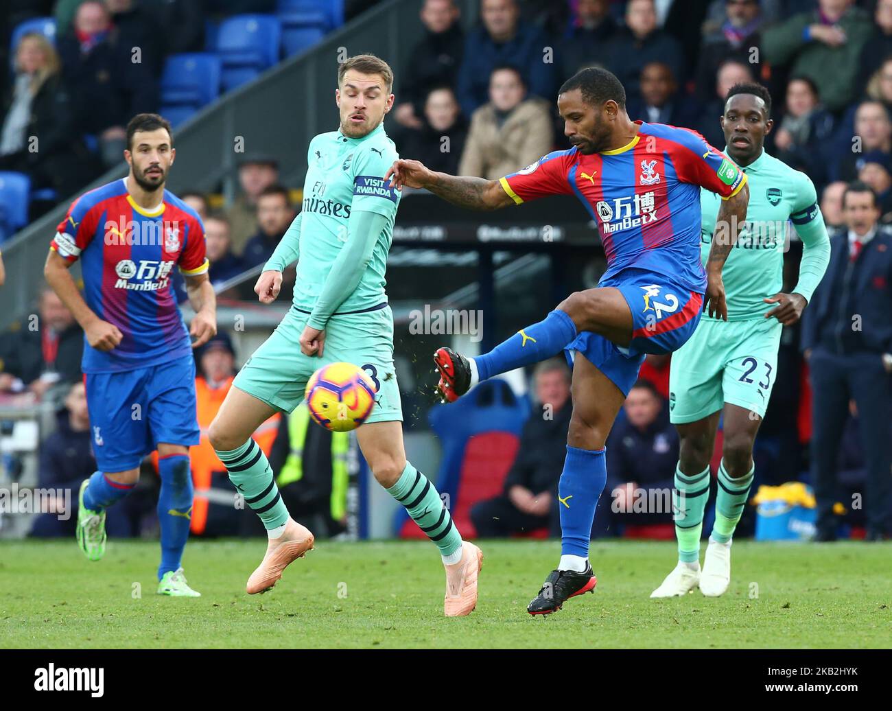
{"type": "Polygon", "coordinates": [[[329,363],[353,363],[375,384],[375,408],[366,422],[402,421],[400,387],[393,367],[390,306],[335,315],[326,324],[321,358],[301,353],[301,333],[310,314],[291,308],[276,330],[245,361],[233,384],[274,408],[291,412],[303,401],[307,381],[329,363]]]}

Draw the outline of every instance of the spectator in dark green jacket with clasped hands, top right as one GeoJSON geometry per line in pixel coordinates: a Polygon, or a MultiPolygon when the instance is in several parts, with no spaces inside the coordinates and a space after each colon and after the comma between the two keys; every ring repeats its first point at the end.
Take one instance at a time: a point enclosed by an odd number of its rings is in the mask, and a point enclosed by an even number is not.
{"type": "Polygon", "coordinates": [[[871,37],[871,17],[853,0],[818,0],[817,5],[764,29],[764,60],[812,79],[821,87],[824,105],[839,114],[858,89],[858,62],[871,37]]]}

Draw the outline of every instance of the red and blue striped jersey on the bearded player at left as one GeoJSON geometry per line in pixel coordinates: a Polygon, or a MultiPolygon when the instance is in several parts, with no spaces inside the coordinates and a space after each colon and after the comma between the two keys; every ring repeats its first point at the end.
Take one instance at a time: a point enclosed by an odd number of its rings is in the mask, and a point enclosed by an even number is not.
{"type": "Polygon", "coordinates": [[[168,190],[156,208],[141,208],[126,179],[71,203],[50,245],[69,262],[80,259],[87,306],[123,335],[107,352],[85,338],[85,373],[146,368],[192,352],[170,272],[174,265],[186,275],[207,271],[202,220],[168,190]]]}

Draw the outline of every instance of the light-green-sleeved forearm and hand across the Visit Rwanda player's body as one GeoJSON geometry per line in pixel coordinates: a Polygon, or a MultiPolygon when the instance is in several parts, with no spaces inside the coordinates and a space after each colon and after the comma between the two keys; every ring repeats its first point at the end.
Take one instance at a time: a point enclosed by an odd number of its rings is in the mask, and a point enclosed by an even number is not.
{"type": "Polygon", "coordinates": [[[305,355],[322,355],[326,323],[359,286],[387,221],[388,217],[378,212],[351,210],[347,219],[346,241],[332,263],[301,335],[301,352],[305,355]]]}

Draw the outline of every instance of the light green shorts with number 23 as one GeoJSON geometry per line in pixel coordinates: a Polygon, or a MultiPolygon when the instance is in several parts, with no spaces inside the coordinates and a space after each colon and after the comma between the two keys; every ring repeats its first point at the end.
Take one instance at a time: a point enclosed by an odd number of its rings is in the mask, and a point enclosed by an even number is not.
{"type": "Polygon", "coordinates": [[[764,417],[782,329],[777,318],[701,318],[687,343],[673,352],[669,420],[695,422],[722,409],[725,402],[764,417]]]}

